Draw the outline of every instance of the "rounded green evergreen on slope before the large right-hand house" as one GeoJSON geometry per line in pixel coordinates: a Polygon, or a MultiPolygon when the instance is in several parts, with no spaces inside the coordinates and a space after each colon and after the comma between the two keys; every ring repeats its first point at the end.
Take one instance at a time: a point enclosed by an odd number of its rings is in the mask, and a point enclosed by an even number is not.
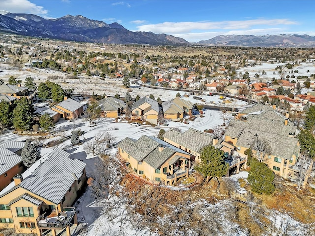
{"type": "Polygon", "coordinates": [[[253,192],[266,195],[272,194],[275,190],[274,179],[275,174],[265,163],[256,159],[252,160],[247,181],[252,185],[253,192]]]}

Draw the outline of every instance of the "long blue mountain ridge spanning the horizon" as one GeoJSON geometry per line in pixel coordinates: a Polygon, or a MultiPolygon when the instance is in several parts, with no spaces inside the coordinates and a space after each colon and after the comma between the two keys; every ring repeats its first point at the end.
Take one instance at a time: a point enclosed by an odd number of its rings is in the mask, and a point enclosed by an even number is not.
{"type": "Polygon", "coordinates": [[[44,19],[27,13],[0,11],[2,32],[33,37],[116,44],[200,45],[244,47],[314,47],[315,37],[297,34],[218,35],[208,40],[189,43],[183,38],[153,32],[133,32],[117,22],[107,24],[82,15],[44,19]]]}

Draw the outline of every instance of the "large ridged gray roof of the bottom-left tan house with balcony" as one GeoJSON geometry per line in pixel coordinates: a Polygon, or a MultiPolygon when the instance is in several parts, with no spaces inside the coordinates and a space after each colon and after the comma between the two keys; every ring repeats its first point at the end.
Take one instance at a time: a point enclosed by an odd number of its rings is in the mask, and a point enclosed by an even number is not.
{"type": "Polygon", "coordinates": [[[77,159],[70,159],[69,156],[69,153],[56,148],[19,186],[59,204],[75,181],[73,173],[76,177],[81,177],[86,165],[77,159]]]}

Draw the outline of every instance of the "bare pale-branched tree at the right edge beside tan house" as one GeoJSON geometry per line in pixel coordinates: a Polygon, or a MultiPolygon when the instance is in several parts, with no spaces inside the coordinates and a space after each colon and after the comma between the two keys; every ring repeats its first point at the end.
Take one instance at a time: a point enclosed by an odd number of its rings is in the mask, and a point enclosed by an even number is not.
{"type": "Polygon", "coordinates": [[[298,162],[294,166],[294,169],[297,170],[295,173],[297,180],[297,191],[300,191],[304,181],[307,180],[308,176],[311,174],[312,166],[313,160],[305,153],[302,153],[298,162]]]}

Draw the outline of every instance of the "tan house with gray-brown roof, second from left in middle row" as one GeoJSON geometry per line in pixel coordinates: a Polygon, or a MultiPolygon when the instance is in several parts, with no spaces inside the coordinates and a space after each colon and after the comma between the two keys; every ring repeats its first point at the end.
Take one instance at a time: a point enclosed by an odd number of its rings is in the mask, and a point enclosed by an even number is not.
{"type": "Polygon", "coordinates": [[[125,102],[114,97],[99,100],[97,104],[102,109],[101,117],[117,118],[126,110],[125,102]]]}

